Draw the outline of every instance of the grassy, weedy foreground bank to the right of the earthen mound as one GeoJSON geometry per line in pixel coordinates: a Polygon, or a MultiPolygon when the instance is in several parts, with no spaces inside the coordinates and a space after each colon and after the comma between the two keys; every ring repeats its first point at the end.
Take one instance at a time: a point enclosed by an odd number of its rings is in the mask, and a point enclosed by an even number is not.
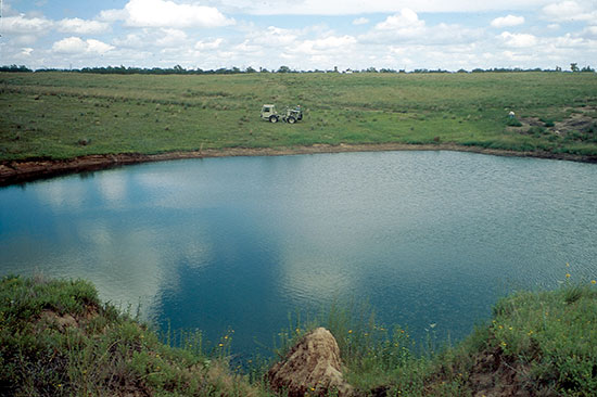
{"type": "MultiPolygon", "coordinates": [[[[597,282],[500,299],[493,319],[456,345],[412,341],[370,311],[332,307],[281,333],[281,350],[315,326],[338,341],[345,376],[364,396],[596,396],[597,282]]],[[[431,324],[433,326],[434,324],[431,324]]]]}

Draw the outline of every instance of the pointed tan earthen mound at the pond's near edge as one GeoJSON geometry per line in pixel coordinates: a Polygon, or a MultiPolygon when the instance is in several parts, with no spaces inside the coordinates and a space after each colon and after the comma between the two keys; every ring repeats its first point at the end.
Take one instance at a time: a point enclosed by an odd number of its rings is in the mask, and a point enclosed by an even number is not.
{"type": "Polygon", "coordinates": [[[354,395],[341,372],[340,348],[330,331],[318,328],[305,335],[267,373],[271,388],[289,397],[327,396],[335,390],[339,397],[354,395]]]}

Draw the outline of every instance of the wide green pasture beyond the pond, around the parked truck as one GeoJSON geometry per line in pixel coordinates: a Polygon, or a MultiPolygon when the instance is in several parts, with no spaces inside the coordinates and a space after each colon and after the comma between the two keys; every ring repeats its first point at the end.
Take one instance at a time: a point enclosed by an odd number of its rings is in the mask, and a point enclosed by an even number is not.
{"type": "Polygon", "coordinates": [[[0,161],[341,143],[597,155],[594,73],[1,73],[0,111],[0,161]],[[263,121],[264,103],[305,119],[263,121]]]}

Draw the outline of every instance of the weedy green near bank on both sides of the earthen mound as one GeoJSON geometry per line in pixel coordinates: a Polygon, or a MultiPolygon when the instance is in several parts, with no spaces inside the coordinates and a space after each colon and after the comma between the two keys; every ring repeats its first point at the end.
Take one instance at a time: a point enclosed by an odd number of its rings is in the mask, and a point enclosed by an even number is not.
{"type": "MultiPolygon", "coordinates": [[[[278,353],[325,325],[357,396],[595,396],[596,323],[595,281],[566,282],[501,299],[493,320],[455,347],[435,346],[432,330],[416,346],[405,329],[379,325],[367,310],[332,308],[279,333],[278,353]]],[[[4,277],[0,395],[272,396],[267,363],[247,374],[230,369],[233,335],[212,347],[200,332],[178,333],[178,347],[172,335],[102,304],[85,281],[4,277]]]]}

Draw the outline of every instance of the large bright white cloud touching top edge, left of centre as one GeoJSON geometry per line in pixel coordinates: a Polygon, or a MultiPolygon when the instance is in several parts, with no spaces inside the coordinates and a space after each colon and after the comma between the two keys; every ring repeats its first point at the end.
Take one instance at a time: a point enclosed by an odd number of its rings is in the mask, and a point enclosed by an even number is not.
{"type": "MultiPolygon", "coordinates": [[[[217,9],[205,5],[178,4],[168,0],[130,0],[126,5],[125,24],[134,27],[219,27],[234,24],[217,9]]],[[[104,17],[122,17],[110,12],[104,17]]]]}

